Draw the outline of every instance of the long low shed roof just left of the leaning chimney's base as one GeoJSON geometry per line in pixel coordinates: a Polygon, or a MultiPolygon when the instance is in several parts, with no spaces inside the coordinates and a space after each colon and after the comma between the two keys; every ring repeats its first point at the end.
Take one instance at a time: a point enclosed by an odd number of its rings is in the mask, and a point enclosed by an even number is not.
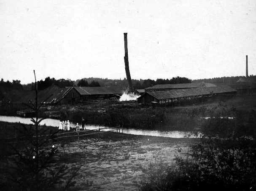
{"type": "Polygon", "coordinates": [[[124,89],[120,87],[73,87],[81,95],[95,94],[123,94],[124,89]]]}

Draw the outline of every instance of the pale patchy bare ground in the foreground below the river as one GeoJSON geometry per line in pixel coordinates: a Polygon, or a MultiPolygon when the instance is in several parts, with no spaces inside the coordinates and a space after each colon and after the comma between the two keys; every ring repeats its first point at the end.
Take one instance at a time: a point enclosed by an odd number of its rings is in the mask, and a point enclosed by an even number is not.
{"type": "Polygon", "coordinates": [[[75,190],[136,191],[145,180],[143,169],[160,160],[170,166],[175,155],[186,157],[189,145],[195,141],[112,133],[57,146],[61,162],[69,167],[81,166],[75,190]]]}

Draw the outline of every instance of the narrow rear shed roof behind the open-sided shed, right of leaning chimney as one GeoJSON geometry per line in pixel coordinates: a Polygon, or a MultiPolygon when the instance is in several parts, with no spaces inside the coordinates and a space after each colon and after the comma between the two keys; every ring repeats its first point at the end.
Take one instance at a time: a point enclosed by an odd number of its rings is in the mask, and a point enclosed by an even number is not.
{"type": "Polygon", "coordinates": [[[202,88],[202,87],[214,87],[215,84],[210,83],[187,83],[187,84],[158,84],[148,87],[146,89],[185,89],[185,88],[202,88]]]}

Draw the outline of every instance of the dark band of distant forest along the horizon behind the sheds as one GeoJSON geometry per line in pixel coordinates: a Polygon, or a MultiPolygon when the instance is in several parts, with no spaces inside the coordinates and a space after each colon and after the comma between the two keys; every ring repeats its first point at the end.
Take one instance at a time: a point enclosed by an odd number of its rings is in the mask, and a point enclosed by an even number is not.
{"type": "MultiPolygon", "coordinates": [[[[144,89],[149,86],[154,86],[156,84],[183,84],[183,83],[198,83],[198,82],[205,82],[205,83],[234,83],[239,78],[245,79],[245,81],[256,81],[256,76],[250,75],[248,78],[245,76],[231,76],[231,77],[220,77],[220,78],[205,78],[205,79],[196,79],[191,80],[185,77],[175,77],[171,79],[162,79],[158,78],[155,80],[151,79],[140,79],[135,80],[132,79],[132,84],[135,89],[144,89]]],[[[35,83],[30,84],[20,84],[21,81],[13,80],[11,81],[4,81],[3,78],[0,81],[0,94],[2,92],[11,91],[11,90],[34,90],[35,83]]],[[[47,77],[45,80],[38,81],[38,90],[46,89],[47,87],[51,86],[52,84],[64,88],[66,86],[90,86],[90,87],[97,87],[97,86],[120,86],[120,87],[128,87],[127,79],[108,79],[108,78],[83,78],[76,81],[71,81],[70,79],[58,79],[47,77]]],[[[0,95],[1,98],[1,95],[0,95]]]]}

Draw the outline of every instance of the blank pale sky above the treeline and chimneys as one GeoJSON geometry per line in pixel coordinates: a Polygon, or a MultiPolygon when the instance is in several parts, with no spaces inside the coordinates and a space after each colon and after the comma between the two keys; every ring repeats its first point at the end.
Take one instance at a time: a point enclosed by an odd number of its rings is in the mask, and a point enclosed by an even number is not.
{"type": "Polygon", "coordinates": [[[0,0],[0,78],[256,75],[255,0],[0,0]]]}

